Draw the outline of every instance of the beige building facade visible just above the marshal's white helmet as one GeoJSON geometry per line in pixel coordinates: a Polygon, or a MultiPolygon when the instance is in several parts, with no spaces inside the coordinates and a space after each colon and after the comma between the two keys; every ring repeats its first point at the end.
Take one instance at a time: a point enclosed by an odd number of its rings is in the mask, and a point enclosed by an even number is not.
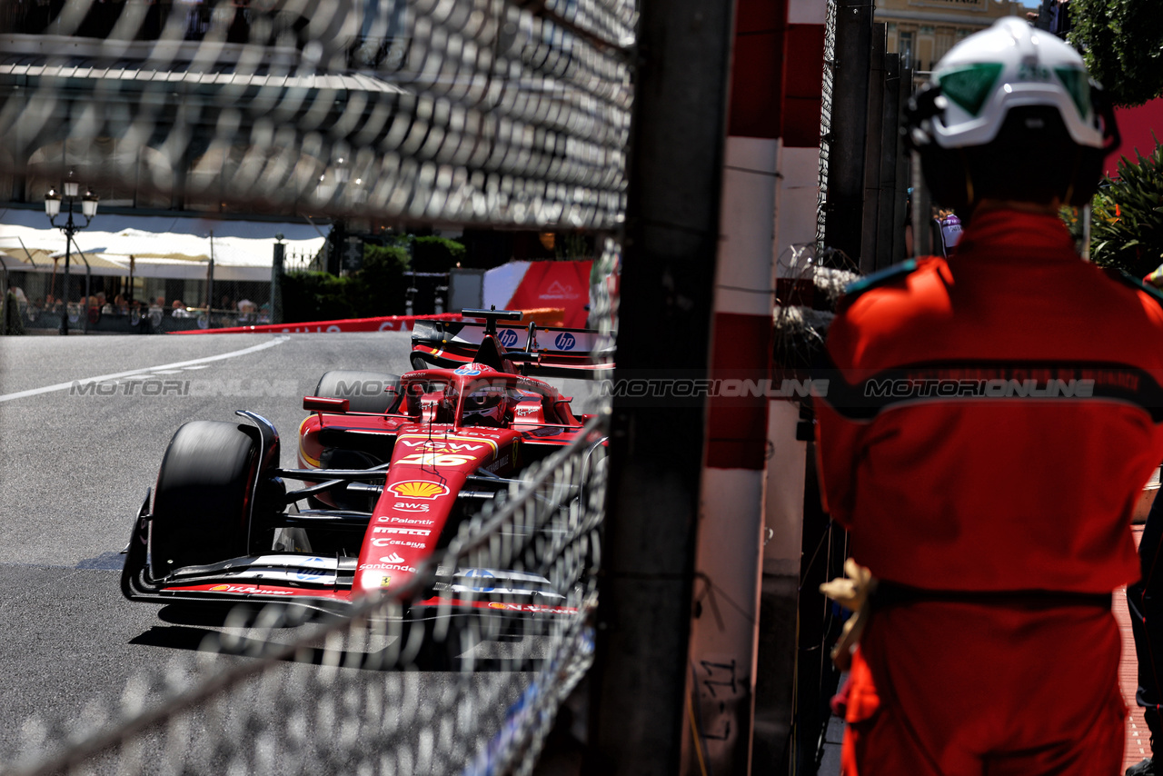
{"type": "Polygon", "coordinates": [[[1027,10],[1013,0],[877,0],[875,17],[885,22],[889,52],[904,55],[918,79],[927,80],[934,63],[962,38],[1027,10]]]}

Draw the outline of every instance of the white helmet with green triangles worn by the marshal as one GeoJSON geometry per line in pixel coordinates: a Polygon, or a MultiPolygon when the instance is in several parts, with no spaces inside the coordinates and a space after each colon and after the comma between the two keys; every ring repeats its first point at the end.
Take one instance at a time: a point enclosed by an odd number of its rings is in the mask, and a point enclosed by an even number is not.
{"type": "Polygon", "coordinates": [[[986,198],[1086,205],[1119,142],[1078,52],[1016,16],[950,49],[905,121],[933,198],[965,212],[986,198]]]}

